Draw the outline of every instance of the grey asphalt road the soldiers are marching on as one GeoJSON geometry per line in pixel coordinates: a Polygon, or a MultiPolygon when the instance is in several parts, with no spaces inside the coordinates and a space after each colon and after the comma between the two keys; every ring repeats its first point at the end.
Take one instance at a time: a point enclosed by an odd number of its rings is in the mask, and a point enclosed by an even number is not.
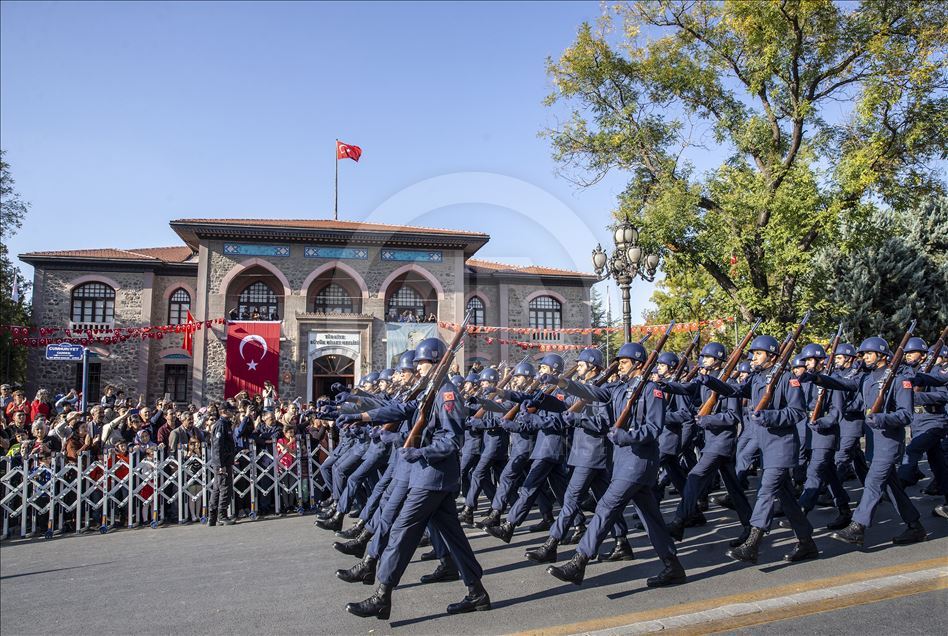
{"type": "MultiPolygon", "coordinates": [[[[241,522],[232,527],[183,526],[49,541],[5,541],[0,547],[0,631],[4,635],[73,636],[130,631],[441,635],[542,629],[864,569],[948,558],[948,522],[930,516],[936,500],[920,495],[917,487],[911,494],[930,532],[928,541],[892,546],[890,539],[902,526],[893,520],[892,506],[883,503],[864,550],[833,541],[820,531],[816,540],[822,558],[793,565],[781,561],[793,541],[791,532],[780,528],[765,539],[758,565],[725,557],[727,540],[739,528],[730,511],[712,509],[707,515],[711,523],[690,529],[679,544],[689,583],[662,590],[645,587],[645,578],[660,569],[660,564],[642,532],[631,536],[637,560],[591,564],[586,582],[575,587],[557,581],[543,567],[523,558],[524,549],[538,545],[545,536],[521,530],[505,545],[480,530],[469,529],[468,536],[484,567],[493,611],[446,615],[445,607],[464,595],[464,587],[460,582],[420,584],[418,578],[434,564],[418,561],[416,554],[394,593],[389,622],[359,619],[345,612],[346,602],[361,600],[372,590],[345,584],[334,576],[337,568],[348,567],[355,560],[333,550],[332,534],[315,528],[310,516],[241,522]]],[[[666,518],[676,501],[669,499],[663,506],[666,518]]],[[[814,525],[825,525],[831,513],[817,509],[811,517],[814,525]]],[[[603,551],[610,547],[611,541],[607,541],[603,551]]],[[[561,560],[571,554],[571,549],[562,551],[561,560]]],[[[852,633],[860,624],[874,627],[876,615],[862,611],[855,608],[846,614],[850,631],[840,633],[852,633]]],[[[930,625],[931,615],[913,614],[897,624],[902,631],[930,625]]]]}

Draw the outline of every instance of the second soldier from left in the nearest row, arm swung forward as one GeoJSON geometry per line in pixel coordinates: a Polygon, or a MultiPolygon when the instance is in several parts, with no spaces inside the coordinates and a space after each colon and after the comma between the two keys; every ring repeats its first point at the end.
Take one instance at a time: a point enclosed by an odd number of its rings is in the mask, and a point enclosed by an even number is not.
{"type": "MultiPolygon", "coordinates": [[[[620,376],[628,378],[641,369],[647,356],[641,344],[627,342],[617,357],[620,358],[620,376]]],[[[665,528],[654,490],[658,481],[658,437],[665,418],[664,392],[650,379],[638,376],[629,382],[602,387],[560,379],[558,387],[580,399],[606,405],[610,421],[608,438],[613,443],[613,468],[609,487],[596,505],[596,513],[576,547],[576,554],[562,566],[550,566],[547,572],[561,581],[580,585],[589,559],[598,553],[602,541],[632,502],[645,525],[649,541],[664,564],[662,571],[647,579],[646,584],[661,587],[684,583],[685,570],[676,556],[675,543],[665,528]],[[615,428],[614,423],[638,382],[646,384],[633,406],[628,428],[615,428]]]]}

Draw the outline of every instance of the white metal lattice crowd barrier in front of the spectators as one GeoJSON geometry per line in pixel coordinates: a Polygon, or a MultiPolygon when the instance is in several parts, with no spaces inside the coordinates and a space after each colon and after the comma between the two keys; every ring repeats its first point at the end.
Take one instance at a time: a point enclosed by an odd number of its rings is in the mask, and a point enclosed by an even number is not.
{"type": "MultiPolygon", "coordinates": [[[[303,435],[239,450],[229,514],[252,520],[312,510],[320,488],[314,476],[332,449],[330,436],[317,442],[303,435]]],[[[174,452],[112,449],[94,461],[86,452],[74,463],[61,453],[0,457],[0,539],[206,523],[211,479],[203,443],[174,452]]]]}

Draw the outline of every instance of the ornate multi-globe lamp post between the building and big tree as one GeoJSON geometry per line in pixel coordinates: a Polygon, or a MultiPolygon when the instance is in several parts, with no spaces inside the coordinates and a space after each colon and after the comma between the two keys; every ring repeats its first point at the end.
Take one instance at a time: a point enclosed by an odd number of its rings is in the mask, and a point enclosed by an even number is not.
{"type": "Polygon", "coordinates": [[[639,245],[639,231],[629,221],[622,221],[614,226],[612,239],[615,250],[612,256],[596,245],[593,250],[593,267],[599,280],[606,280],[610,276],[615,279],[622,290],[622,325],[625,327],[625,341],[632,341],[632,296],[629,291],[635,278],[647,281],[655,280],[658,270],[658,254],[646,254],[639,245]]]}

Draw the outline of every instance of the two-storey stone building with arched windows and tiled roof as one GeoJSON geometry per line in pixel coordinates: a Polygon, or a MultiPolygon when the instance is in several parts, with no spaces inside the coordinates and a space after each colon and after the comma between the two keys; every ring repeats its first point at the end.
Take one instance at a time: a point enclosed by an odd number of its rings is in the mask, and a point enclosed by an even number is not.
{"type": "MultiPolygon", "coordinates": [[[[307,399],[389,366],[437,333],[435,321],[458,323],[468,310],[475,324],[538,329],[500,338],[590,341],[539,330],[589,327],[595,276],[476,259],[487,234],[333,220],[181,219],[171,227],[183,245],[21,254],[35,268],[34,322],[111,329],[182,324],[188,312],[197,321],[278,321],[280,393],[307,399]]],[[[226,324],[197,331],[193,354],[181,334],[93,345],[90,398],[113,384],[148,400],[220,399],[226,334],[226,324]]],[[[522,356],[518,346],[471,337],[459,360],[467,368],[475,358],[522,356]]],[[[80,376],[81,365],[30,352],[30,388],[61,390],[80,376]]]]}

